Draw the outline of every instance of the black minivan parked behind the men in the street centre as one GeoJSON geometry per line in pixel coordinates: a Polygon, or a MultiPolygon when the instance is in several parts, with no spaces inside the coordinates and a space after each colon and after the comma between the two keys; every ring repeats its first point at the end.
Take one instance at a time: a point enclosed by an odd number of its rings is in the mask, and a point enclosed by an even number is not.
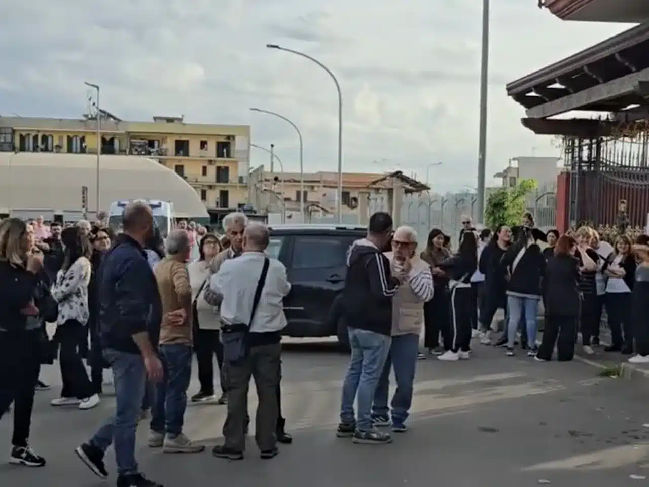
{"type": "Polygon", "coordinates": [[[291,292],[284,298],[288,325],[284,335],[297,338],[337,336],[349,343],[347,329],[329,323],[334,298],[343,290],[347,250],[365,237],[367,227],[350,225],[271,225],[268,253],[288,274],[291,292]]]}

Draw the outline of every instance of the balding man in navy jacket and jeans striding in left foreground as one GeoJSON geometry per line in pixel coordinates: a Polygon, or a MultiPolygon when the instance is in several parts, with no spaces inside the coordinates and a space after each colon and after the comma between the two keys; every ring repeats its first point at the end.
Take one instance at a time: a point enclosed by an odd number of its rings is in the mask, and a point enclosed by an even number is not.
{"type": "MultiPolygon", "coordinates": [[[[75,452],[93,473],[105,479],[104,453],[114,443],[117,487],[162,487],[138,470],[135,440],[147,376],[160,381],[156,355],[162,305],[156,279],[144,253],[153,231],[151,208],[130,203],[123,215],[124,232],[104,256],[97,275],[99,319],[104,358],[113,371],[117,412],[75,452]]],[[[175,319],[175,317],[167,317],[175,319]]]]}

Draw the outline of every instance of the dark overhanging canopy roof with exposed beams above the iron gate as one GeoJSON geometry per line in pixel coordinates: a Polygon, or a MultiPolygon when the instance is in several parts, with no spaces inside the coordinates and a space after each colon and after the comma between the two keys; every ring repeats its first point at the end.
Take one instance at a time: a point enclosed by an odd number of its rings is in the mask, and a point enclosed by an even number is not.
{"type": "Polygon", "coordinates": [[[506,86],[529,118],[572,110],[619,112],[644,103],[649,24],[638,25],[506,86]]]}

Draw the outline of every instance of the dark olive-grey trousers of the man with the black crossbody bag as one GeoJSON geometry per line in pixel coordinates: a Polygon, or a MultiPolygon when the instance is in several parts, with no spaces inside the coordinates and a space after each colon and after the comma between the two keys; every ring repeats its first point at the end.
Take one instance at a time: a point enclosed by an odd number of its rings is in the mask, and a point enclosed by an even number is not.
{"type": "Polygon", "coordinates": [[[275,447],[279,418],[278,385],[281,380],[280,356],[282,346],[259,345],[251,347],[246,358],[226,364],[228,416],[223,425],[225,446],[236,451],[245,450],[248,421],[248,389],[251,378],[259,399],[256,414],[255,440],[261,451],[275,447]]]}

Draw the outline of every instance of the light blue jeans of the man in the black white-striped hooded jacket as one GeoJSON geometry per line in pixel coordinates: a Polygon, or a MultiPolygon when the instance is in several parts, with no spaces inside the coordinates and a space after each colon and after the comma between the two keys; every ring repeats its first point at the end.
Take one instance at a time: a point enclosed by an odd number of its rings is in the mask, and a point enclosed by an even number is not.
{"type": "Polygon", "coordinates": [[[356,423],[360,431],[372,429],[374,391],[386,364],[392,339],[389,336],[349,327],[352,356],[343,383],[341,423],[356,423]],[[358,395],[358,421],[354,418],[354,399],[358,395]]]}

